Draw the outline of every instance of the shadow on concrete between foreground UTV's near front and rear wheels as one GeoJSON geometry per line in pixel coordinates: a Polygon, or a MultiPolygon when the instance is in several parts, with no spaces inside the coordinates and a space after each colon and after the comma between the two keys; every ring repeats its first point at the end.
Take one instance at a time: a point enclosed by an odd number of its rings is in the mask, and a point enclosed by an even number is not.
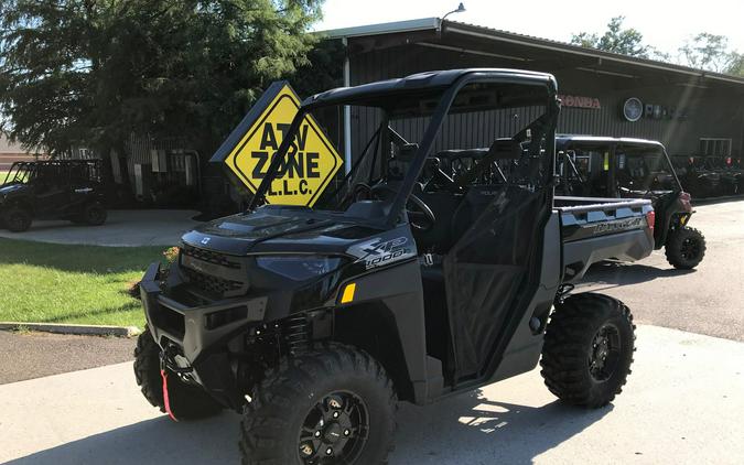
{"type": "Polygon", "coordinates": [[[481,390],[427,407],[405,404],[390,464],[531,464],[612,409],[559,401],[528,407],[485,399],[481,390]]]}

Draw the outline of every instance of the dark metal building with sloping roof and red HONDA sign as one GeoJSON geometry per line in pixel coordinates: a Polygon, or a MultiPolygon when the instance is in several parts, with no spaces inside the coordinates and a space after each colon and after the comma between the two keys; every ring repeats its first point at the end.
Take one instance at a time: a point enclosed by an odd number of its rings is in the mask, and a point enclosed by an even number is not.
{"type": "MultiPolygon", "coordinates": [[[[558,78],[562,96],[559,132],[655,139],[676,155],[744,155],[742,77],[439,18],[322,34],[346,44],[343,79],[347,86],[461,67],[548,72],[558,78]]],[[[366,140],[368,125],[362,113],[346,118],[344,132],[351,137],[338,142],[351,156],[366,140]]],[[[477,138],[487,125],[462,121],[457,137],[477,138]]]]}

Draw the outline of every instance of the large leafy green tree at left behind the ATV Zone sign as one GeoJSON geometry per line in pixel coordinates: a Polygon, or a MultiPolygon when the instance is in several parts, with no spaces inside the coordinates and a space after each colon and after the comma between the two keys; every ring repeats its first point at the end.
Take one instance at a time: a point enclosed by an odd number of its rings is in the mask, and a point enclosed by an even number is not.
{"type": "Polygon", "coordinates": [[[322,0],[0,0],[0,113],[26,147],[211,153],[262,89],[308,66],[322,0]]]}

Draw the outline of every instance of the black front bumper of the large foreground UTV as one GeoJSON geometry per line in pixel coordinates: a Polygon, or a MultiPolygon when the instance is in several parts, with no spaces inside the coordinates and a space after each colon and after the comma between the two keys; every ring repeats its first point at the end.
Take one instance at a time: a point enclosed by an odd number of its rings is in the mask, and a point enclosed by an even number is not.
{"type": "MultiPolygon", "coordinates": [[[[262,322],[267,296],[222,300],[207,305],[188,306],[163,292],[160,263],[151,263],[140,282],[140,295],[150,333],[165,354],[174,371],[194,369],[193,378],[205,386],[200,366],[217,356],[225,344],[246,325],[262,322]]],[[[168,286],[183,284],[177,267],[168,277],[168,286]]],[[[205,386],[206,387],[206,386],[205,386]]]]}

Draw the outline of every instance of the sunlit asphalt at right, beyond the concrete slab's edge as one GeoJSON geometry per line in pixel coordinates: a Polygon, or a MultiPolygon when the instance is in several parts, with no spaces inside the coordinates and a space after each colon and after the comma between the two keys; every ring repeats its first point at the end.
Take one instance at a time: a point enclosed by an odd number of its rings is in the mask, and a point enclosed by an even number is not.
{"type": "Polygon", "coordinates": [[[601,263],[578,288],[624,301],[637,321],[744,342],[744,199],[696,207],[708,251],[692,271],[676,270],[664,250],[637,263],[601,263]]]}

